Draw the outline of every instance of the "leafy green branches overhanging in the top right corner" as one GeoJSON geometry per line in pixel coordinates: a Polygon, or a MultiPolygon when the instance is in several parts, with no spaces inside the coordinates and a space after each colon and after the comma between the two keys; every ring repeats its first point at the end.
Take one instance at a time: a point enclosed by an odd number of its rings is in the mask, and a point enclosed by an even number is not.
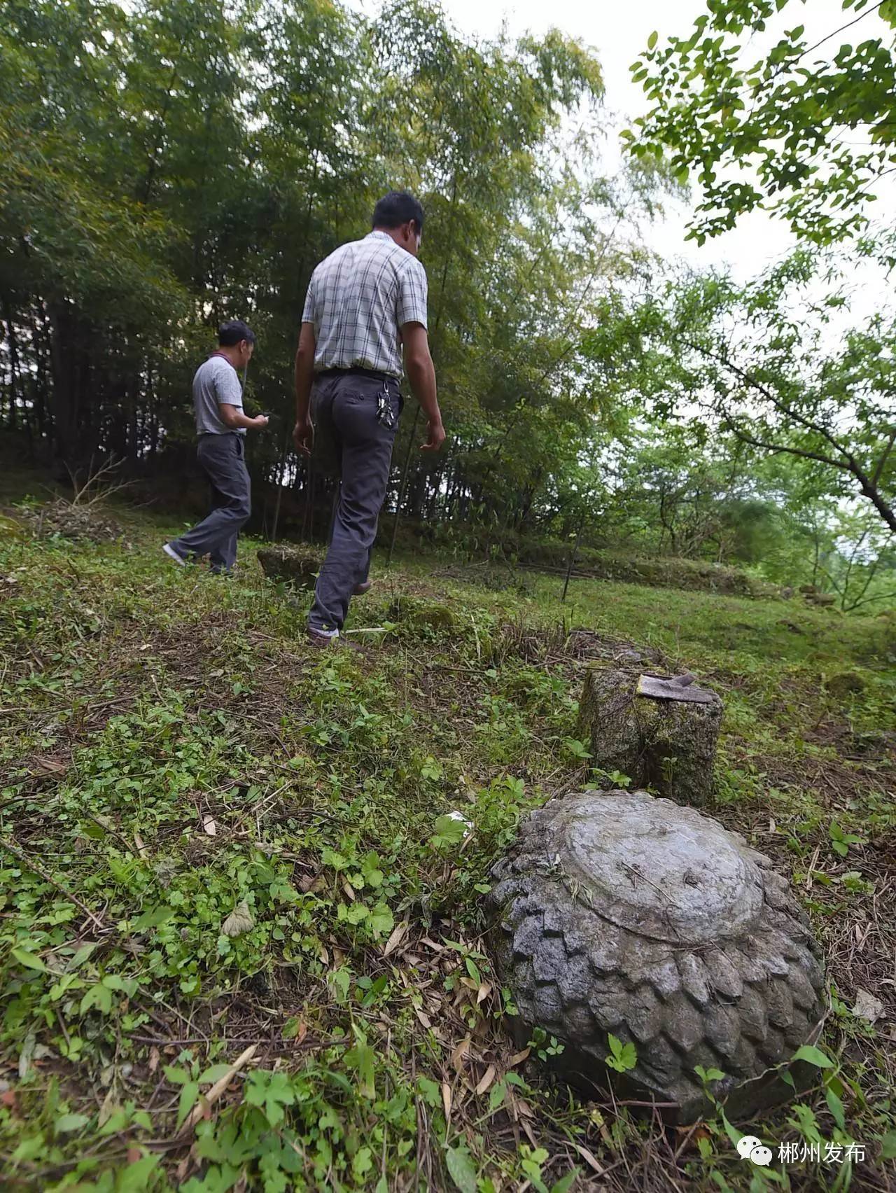
{"type": "Polygon", "coordinates": [[[822,243],[863,228],[896,167],[896,2],[844,0],[842,26],[812,41],[792,0],[706,7],[690,36],[654,33],[632,67],[654,106],[625,134],[631,153],[668,152],[699,185],[698,243],[756,208],[822,243]],[[766,33],[777,41],[756,56],[766,33]]]}

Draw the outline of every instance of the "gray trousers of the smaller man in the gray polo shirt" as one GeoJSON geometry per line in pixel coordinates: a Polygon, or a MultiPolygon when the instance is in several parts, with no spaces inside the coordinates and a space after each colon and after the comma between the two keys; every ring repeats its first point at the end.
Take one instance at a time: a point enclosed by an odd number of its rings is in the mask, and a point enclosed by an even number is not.
{"type": "Polygon", "coordinates": [[[210,556],[212,571],[233,568],[236,534],[252,513],[245,455],[242,435],[199,435],[197,456],[211,484],[211,513],[171,545],[183,556],[210,556]]]}

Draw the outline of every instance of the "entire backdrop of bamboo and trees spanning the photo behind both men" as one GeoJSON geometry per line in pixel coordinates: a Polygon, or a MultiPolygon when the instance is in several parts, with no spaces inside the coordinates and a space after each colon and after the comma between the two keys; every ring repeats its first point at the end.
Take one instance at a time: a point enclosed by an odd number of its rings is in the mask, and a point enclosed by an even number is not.
{"type": "MultiPolygon", "coordinates": [[[[639,228],[659,141],[607,175],[601,75],[577,43],[472,42],[422,0],[373,19],[329,0],[0,10],[0,425],[36,456],[111,456],[180,497],[192,371],[245,317],[247,401],[273,412],[249,443],[257,526],[323,534],[332,489],[289,434],[304,291],[400,186],[427,209],[450,431],[422,458],[414,403],[402,421],[388,503],[414,533],[761,561],[829,587],[848,568],[853,593],[884,560],[842,500],[889,533],[892,321],[835,347],[844,298],[808,253],[747,288],[665,286],[639,228]]],[[[705,63],[723,49],[694,45],[705,63]]]]}

